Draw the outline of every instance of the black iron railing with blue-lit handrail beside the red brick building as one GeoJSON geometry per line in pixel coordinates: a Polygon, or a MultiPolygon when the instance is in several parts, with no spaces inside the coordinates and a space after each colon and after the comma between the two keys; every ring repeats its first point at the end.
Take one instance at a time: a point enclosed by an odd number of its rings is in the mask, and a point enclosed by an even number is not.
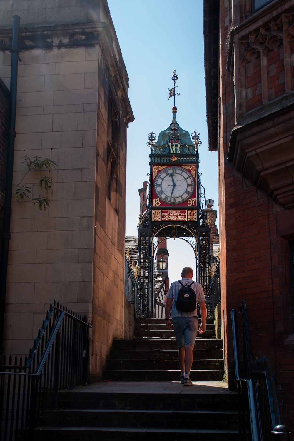
{"type": "Polygon", "coordinates": [[[246,303],[242,302],[244,360],[241,374],[238,323],[235,310],[231,310],[235,377],[238,391],[239,438],[246,440],[248,428],[251,440],[290,440],[289,430],[281,426],[275,385],[268,357],[253,361],[246,303]],[[285,430],[285,437],[279,438],[285,430]]]}

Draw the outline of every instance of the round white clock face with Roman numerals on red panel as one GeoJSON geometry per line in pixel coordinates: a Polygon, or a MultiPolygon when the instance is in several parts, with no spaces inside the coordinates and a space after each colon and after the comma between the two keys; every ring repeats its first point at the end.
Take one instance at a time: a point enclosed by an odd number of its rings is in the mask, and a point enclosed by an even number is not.
{"type": "Polygon", "coordinates": [[[154,180],[154,190],[167,204],[182,204],[194,192],[194,179],[185,168],[172,166],[161,170],[154,180]]]}

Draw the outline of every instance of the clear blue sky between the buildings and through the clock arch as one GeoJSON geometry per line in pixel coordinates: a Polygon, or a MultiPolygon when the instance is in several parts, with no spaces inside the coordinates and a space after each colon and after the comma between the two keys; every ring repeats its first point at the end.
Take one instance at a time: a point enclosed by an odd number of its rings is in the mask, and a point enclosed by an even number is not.
{"type": "MultiPolygon", "coordinates": [[[[127,133],[126,235],[138,235],[138,189],[148,180],[148,133],[159,135],[171,123],[174,69],[177,82],[177,121],[183,129],[200,132],[201,182],[206,199],[218,209],[217,155],[208,152],[205,105],[203,3],[201,0],[108,0],[123,59],[130,78],[129,98],[135,120],[127,133]]],[[[218,220],[217,220],[218,221],[218,220]]],[[[190,245],[167,241],[170,280],[183,266],[195,265],[190,245]]]]}

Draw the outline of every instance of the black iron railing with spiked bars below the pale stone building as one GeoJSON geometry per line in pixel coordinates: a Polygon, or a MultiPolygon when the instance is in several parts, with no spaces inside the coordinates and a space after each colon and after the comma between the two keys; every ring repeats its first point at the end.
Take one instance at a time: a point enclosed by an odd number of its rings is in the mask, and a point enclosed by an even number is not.
{"type": "Polygon", "coordinates": [[[86,384],[89,328],[86,318],[61,303],[50,305],[29,356],[0,359],[0,440],[30,441],[40,411],[57,407],[58,391],[86,384]]]}

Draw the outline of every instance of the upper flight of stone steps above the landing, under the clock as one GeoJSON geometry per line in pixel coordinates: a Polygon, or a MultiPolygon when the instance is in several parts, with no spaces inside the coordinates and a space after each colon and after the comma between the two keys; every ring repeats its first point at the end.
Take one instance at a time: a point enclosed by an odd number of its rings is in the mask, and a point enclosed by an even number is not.
{"type": "MultiPolygon", "coordinates": [[[[223,380],[223,340],[215,335],[213,319],[208,319],[205,333],[196,338],[192,381],[223,380]]],[[[163,319],[138,319],[134,340],[114,340],[104,379],[179,381],[177,348],[174,331],[166,329],[163,319]]]]}

